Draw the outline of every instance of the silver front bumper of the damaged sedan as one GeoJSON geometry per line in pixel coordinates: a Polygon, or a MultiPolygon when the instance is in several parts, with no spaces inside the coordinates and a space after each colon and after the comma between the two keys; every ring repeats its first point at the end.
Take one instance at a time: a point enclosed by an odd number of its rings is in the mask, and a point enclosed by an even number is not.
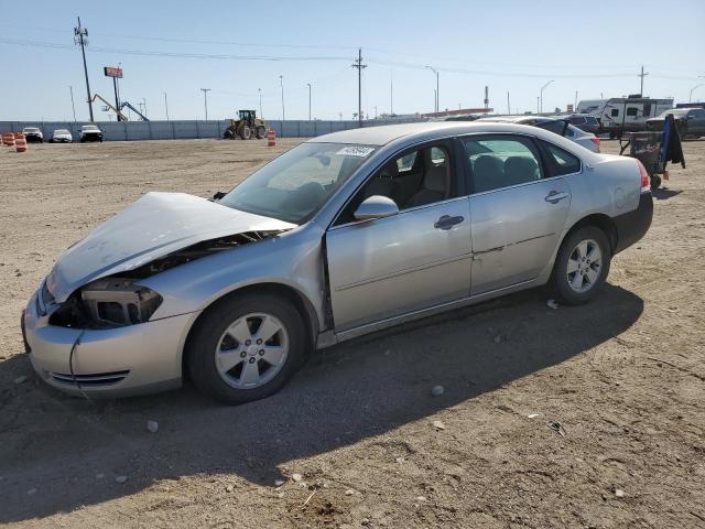
{"type": "Polygon", "coordinates": [[[82,330],[51,325],[48,315],[40,314],[39,295],[34,293],[23,311],[22,331],[32,366],[48,385],[74,395],[106,398],[181,385],[182,352],[197,312],[82,330]]]}

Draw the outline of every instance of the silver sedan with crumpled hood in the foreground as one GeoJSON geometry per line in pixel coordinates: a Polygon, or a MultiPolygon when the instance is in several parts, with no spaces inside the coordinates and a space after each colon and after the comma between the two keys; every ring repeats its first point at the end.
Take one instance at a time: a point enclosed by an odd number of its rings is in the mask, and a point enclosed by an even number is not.
{"type": "Polygon", "coordinates": [[[653,207],[632,158],[480,121],[322,136],[217,196],[148,193],[58,258],[21,320],[43,380],[263,398],[413,319],[546,283],[585,303],[653,207]]]}

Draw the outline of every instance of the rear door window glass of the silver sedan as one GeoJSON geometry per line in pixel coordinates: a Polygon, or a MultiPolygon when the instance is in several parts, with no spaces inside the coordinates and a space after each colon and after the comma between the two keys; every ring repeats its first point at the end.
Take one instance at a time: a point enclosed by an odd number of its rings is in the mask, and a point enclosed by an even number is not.
{"type": "Polygon", "coordinates": [[[534,182],[543,177],[541,158],[528,138],[511,136],[463,139],[475,193],[534,182]]]}

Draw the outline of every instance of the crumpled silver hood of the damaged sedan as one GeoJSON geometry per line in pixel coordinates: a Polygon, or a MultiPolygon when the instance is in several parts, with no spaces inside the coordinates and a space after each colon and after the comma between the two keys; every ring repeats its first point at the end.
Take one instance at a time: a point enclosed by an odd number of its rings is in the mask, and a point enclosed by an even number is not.
{"type": "Polygon", "coordinates": [[[185,193],[148,193],[68,248],[46,284],[62,303],[95,279],[132,270],[203,240],[294,227],[185,193]]]}

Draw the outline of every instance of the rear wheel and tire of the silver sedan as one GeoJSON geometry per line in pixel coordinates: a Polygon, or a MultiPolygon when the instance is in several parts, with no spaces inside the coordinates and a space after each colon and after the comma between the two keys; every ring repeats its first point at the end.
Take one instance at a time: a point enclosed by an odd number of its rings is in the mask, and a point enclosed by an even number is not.
{"type": "Polygon", "coordinates": [[[596,226],[585,226],[568,235],[561,245],[551,274],[551,285],[567,305],[587,303],[605,285],[610,262],[611,248],[605,233],[596,226]],[[599,250],[598,258],[587,259],[595,248],[599,250]],[[575,271],[568,271],[568,264],[575,271]]]}

